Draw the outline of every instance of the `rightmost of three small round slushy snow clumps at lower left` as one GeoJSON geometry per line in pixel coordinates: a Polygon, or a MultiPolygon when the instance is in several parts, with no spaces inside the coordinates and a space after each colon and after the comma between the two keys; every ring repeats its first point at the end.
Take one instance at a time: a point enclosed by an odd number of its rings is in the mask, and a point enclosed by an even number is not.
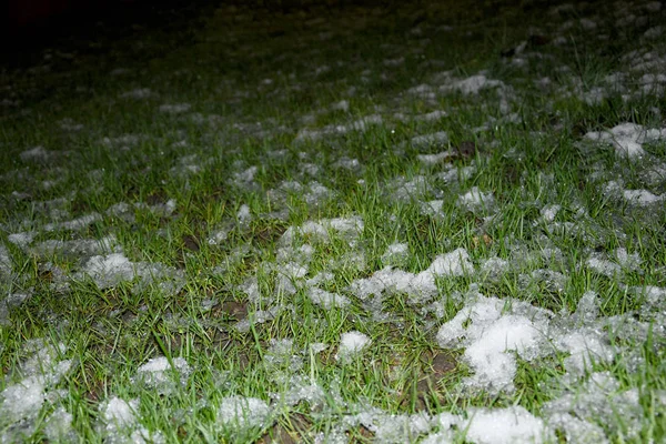
{"type": "Polygon", "coordinates": [[[218,422],[234,434],[264,430],[272,424],[271,416],[269,404],[256,397],[228,396],[218,410],[218,422]]]}

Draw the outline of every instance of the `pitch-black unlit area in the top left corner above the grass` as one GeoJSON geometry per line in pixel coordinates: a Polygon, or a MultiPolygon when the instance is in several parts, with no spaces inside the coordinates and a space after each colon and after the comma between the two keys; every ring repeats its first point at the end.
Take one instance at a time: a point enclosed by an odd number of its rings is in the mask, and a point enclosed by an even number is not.
{"type": "Polygon", "coordinates": [[[0,65],[26,68],[51,48],[100,54],[105,42],[131,39],[154,29],[182,29],[214,0],[10,0],[0,22],[0,65]]]}

